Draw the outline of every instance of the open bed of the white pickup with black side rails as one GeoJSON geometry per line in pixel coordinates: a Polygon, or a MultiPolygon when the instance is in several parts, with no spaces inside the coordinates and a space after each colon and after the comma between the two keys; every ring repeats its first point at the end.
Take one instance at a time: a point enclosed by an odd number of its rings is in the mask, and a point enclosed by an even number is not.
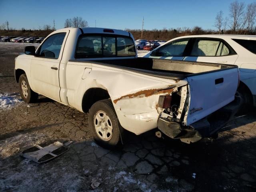
{"type": "Polygon", "coordinates": [[[119,69],[130,70],[141,74],[173,80],[182,80],[188,76],[210,73],[216,70],[227,70],[229,68],[237,68],[237,66],[226,64],[188,62],[153,58],[70,61],[86,63],[91,62],[94,64],[112,66],[119,69]]]}

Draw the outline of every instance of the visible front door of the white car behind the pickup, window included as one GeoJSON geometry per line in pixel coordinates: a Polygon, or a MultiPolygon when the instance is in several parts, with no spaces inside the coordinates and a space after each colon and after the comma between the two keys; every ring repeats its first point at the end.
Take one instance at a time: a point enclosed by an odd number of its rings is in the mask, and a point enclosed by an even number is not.
{"type": "Polygon", "coordinates": [[[150,58],[183,60],[190,38],[177,39],[152,51],[150,58]]]}

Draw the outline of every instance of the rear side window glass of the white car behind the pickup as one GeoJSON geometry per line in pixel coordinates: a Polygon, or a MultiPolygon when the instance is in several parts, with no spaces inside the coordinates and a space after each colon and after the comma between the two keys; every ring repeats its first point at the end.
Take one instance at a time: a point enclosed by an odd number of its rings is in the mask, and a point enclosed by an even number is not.
{"type": "Polygon", "coordinates": [[[229,49],[218,40],[196,39],[190,56],[224,56],[229,54],[229,49]]]}

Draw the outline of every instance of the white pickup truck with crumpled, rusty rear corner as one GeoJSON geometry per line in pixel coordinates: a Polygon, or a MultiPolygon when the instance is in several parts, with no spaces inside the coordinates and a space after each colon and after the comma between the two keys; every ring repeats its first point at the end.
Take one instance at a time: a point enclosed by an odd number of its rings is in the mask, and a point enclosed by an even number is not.
{"type": "MultiPolygon", "coordinates": [[[[196,142],[209,137],[220,108],[234,100],[237,66],[137,58],[130,32],[64,28],[15,59],[25,102],[42,94],[80,112],[98,144],[116,146],[124,130],[196,142]],[[216,112],[217,111],[217,112],[216,112]]],[[[222,115],[223,116],[223,115],[222,115]]]]}

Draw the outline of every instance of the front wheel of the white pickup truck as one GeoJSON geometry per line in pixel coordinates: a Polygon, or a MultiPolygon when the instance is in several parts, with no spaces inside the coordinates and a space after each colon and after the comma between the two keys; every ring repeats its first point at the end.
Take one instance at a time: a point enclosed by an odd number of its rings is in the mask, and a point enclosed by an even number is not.
{"type": "Polygon", "coordinates": [[[22,74],[19,78],[19,88],[21,98],[26,103],[35,102],[38,98],[38,94],[30,88],[26,74],[22,74]]]}

